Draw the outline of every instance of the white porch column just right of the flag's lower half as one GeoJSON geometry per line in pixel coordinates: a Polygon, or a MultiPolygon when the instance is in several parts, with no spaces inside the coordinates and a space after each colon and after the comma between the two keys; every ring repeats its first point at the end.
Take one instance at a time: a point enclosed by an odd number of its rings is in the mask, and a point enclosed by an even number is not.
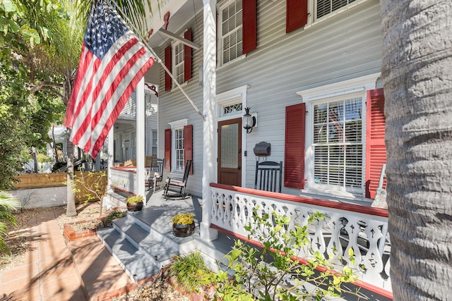
{"type": "Polygon", "coordinates": [[[145,99],[144,99],[144,78],[141,78],[138,85],[136,85],[136,194],[143,195],[145,198],[145,99]]]}

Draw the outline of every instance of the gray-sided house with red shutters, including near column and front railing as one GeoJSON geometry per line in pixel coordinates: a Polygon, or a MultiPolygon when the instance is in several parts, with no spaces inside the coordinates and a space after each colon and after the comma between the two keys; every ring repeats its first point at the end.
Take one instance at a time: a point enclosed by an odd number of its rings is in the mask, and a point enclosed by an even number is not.
{"type": "Polygon", "coordinates": [[[388,214],[370,206],[386,164],[379,1],[169,0],[150,24],[150,47],[179,84],[150,69],[157,156],[167,176],[193,161],[187,190],[202,199],[201,239],[246,237],[237,216],[249,200],[300,220],[323,211],[332,237],[347,231],[347,249],[362,253],[361,280],[391,296],[388,214]],[[254,154],[259,142],[269,156],[254,154]],[[283,162],[281,193],[254,190],[258,160],[283,162]]]}

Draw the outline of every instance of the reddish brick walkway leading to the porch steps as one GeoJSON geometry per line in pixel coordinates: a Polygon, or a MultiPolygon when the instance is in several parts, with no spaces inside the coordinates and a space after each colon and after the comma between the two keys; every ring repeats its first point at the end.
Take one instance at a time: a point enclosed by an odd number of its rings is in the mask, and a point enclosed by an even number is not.
{"type": "Polygon", "coordinates": [[[92,300],[132,283],[97,236],[64,241],[48,211],[28,222],[31,251],[15,269],[0,272],[0,300],[92,300]]]}

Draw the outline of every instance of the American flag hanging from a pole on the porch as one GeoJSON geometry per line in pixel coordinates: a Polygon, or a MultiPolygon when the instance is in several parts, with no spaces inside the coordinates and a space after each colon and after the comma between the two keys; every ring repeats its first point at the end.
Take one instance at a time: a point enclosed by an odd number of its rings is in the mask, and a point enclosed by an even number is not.
{"type": "Polygon", "coordinates": [[[117,12],[104,1],[97,1],[88,19],[66,108],[64,125],[72,128],[70,139],[74,145],[93,158],[97,156],[131,93],[154,61],[117,12]]]}

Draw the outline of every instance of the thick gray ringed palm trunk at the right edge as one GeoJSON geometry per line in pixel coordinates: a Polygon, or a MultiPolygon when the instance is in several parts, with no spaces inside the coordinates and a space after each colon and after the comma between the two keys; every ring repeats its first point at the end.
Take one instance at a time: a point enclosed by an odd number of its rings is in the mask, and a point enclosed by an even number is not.
{"type": "Polygon", "coordinates": [[[394,300],[452,292],[452,1],[381,0],[394,300]]]}

